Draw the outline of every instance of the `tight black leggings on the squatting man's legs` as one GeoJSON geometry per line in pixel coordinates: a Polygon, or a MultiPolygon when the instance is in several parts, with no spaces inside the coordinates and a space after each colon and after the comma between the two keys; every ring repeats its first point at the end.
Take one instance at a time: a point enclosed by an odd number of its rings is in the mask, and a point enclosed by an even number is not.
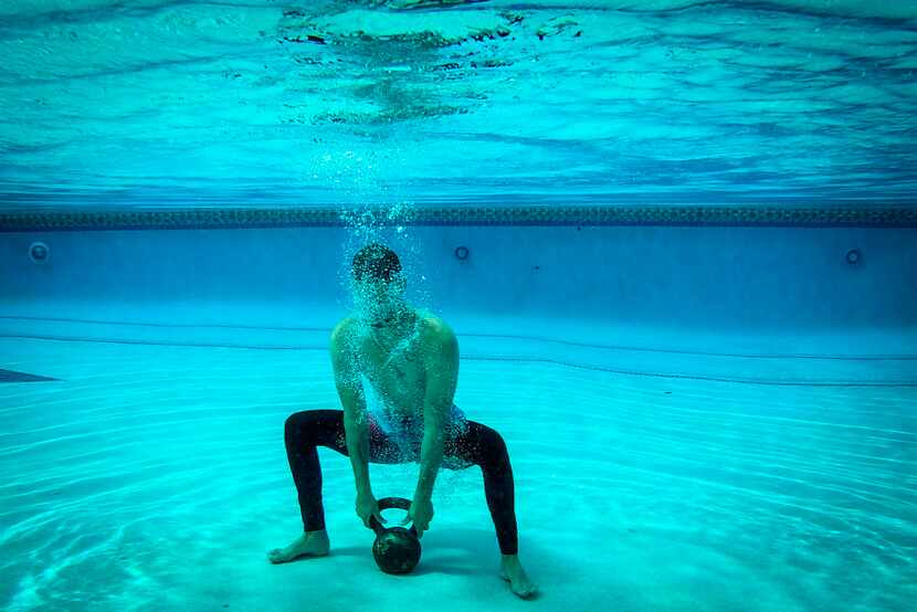
{"type": "MultiPolygon", "coordinates": [[[[369,462],[402,463],[398,446],[377,428],[369,429],[369,462]]],[[[306,531],[325,528],[325,509],[322,505],[322,466],[317,446],[333,449],[342,455],[347,452],[342,410],[305,410],[294,412],[284,424],[284,442],[289,469],[299,494],[299,511],[306,531]]],[[[454,456],[465,463],[481,466],[484,474],[484,495],[497,530],[500,552],[516,555],[515,492],[513,467],[506,443],[499,433],[487,425],[468,421],[467,431],[445,443],[444,456],[454,456]]]]}

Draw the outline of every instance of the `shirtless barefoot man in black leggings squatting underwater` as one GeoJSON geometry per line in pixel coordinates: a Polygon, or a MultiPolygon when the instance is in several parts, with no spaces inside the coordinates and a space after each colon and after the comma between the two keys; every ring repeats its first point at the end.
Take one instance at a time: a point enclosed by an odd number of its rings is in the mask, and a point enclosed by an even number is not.
{"type": "Polygon", "coordinates": [[[369,483],[368,463],[420,463],[408,517],[418,536],[433,518],[431,496],[439,468],[481,466],[484,493],[500,549],[500,578],[521,597],[537,585],[518,556],[513,468],[503,437],[465,419],[453,402],[458,376],[458,345],[452,329],[404,299],[398,255],[375,243],[354,257],[356,315],[331,331],[335,386],[344,410],[307,410],[286,419],[284,441],[299,496],[305,532],[286,548],[267,553],[271,562],[328,555],[317,446],[350,457],[357,485],[356,510],[365,526],[382,518],[369,483]],[[365,387],[369,389],[366,389],[365,387]],[[367,410],[367,392],[383,404],[367,410]]]}

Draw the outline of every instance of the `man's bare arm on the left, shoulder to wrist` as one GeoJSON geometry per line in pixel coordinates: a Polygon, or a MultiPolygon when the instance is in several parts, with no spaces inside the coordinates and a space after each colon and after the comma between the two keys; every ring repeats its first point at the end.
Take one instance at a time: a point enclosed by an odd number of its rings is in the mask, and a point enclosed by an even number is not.
{"type": "Polygon", "coordinates": [[[331,366],[335,371],[335,387],[344,407],[344,431],[357,496],[372,496],[369,484],[369,426],[366,419],[366,395],[354,362],[351,334],[348,319],[344,319],[331,331],[331,366]]]}

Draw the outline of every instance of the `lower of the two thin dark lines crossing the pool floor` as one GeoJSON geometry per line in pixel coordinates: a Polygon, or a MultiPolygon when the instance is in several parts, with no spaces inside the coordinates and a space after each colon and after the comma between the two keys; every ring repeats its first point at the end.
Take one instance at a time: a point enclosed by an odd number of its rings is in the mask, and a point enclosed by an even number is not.
{"type": "MultiPolygon", "coordinates": [[[[308,347],[308,346],[261,346],[261,345],[225,345],[225,344],[210,344],[210,342],[165,342],[156,340],[129,340],[129,339],[107,339],[107,338],[66,338],[59,336],[27,336],[13,334],[0,334],[0,338],[28,338],[31,340],[52,340],[60,342],[94,342],[94,344],[110,344],[110,345],[138,345],[138,346],[160,346],[160,347],[188,347],[188,348],[234,348],[244,350],[328,350],[327,347],[308,347]]],[[[636,376],[649,378],[664,378],[664,379],[683,379],[683,380],[705,380],[712,382],[736,382],[739,384],[763,384],[768,387],[884,387],[884,388],[899,388],[917,387],[917,380],[893,380],[893,381],[850,381],[850,380],[766,380],[751,378],[730,378],[705,374],[681,374],[674,372],[650,372],[640,370],[625,370],[619,368],[608,368],[604,366],[591,366],[589,363],[576,363],[572,361],[561,361],[558,359],[547,359],[540,357],[468,357],[464,356],[462,359],[470,361],[515,361],[515,362],[531,362],[531,363],[554,363],[557,366],[566,366],[580,370],[594,370],[600,372],[609,372],[613,374],[636,376]]]]}

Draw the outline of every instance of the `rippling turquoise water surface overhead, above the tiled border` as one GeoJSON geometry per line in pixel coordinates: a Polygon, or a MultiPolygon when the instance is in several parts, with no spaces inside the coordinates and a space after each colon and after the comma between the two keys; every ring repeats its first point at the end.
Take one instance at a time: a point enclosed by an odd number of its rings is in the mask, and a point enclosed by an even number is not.
{"type": "Polygon", "coordinates": [[[915,17],[860,0],[4,2],[0,207],[906,201],[915,17]]]}

